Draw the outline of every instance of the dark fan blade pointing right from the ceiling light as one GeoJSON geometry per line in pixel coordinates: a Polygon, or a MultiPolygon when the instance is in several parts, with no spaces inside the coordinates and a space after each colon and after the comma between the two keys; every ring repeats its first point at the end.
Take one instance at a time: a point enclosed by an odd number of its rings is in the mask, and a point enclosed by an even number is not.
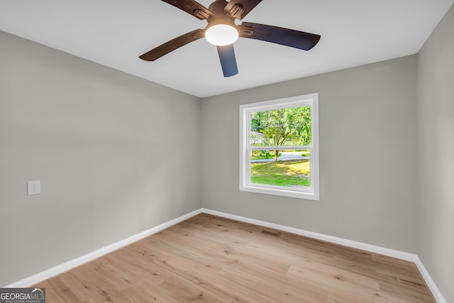
{"type": "Polygon", "coordinates": [[[288,28],[243,22],[239,26],[240,37],[282,44],[300,50],[310,50],[319,43],[320,35],[294,31],[288,28]]]}

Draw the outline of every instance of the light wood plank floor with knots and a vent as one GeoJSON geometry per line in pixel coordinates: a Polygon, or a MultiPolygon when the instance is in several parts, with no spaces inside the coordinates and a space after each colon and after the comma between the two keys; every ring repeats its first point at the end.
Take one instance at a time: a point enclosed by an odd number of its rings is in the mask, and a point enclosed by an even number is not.
{"type": "Polygon", "coordinates": [[[199,214],[39,283],[53,302],[436,302],[416,265],[199,214]]]}

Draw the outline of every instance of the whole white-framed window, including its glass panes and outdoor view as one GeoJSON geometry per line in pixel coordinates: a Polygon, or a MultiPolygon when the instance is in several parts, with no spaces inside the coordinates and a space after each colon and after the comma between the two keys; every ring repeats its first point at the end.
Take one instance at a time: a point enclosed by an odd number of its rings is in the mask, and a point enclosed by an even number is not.
{"type": "Polygon", "coordinates": [[[240,106],[240,190],[319,200],[319,94],[240,106]]]}

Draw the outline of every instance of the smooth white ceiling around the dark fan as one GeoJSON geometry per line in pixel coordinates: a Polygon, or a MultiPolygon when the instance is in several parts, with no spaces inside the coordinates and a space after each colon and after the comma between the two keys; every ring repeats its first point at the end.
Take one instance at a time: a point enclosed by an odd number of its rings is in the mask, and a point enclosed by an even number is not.
{"type": "MultiPolygon", "coordinates": [[[[199,1],[206,7],[211,2],[199,1]]],[[[206,21],[159,0],[0,0],[0,30],[208,97],[418,53],[453,3],[263,0],[243,21],[316,33],[321,40],[306,52],[239,38],[234,45],[239,74],[228,78],[223,77],[216,47],[205,39],[155,62],[138,58],[206,26],[206,21]]]]}

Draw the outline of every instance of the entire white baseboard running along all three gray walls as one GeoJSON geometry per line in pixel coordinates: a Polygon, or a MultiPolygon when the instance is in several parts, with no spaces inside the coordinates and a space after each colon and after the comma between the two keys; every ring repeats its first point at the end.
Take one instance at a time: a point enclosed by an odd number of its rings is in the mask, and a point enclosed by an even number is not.
{"type": "Polygon", "coordinates": [[[134,236],[131,236],[129,238],[126,238],[126,239],[123,239],[116,243],[113,243],[109,246],[105,246],[104,248],[99,248],[98,250],[95,250],[92,253],[87,253],[87,255],[82,255],[79,258],[76,258],[76,259],[70,260],[66,263],[57,265],[57,266],[50,268],[48,270],[45,270],[43,272],[39,272],[36,275],[32,275],[31,277],[26,277],[23,280],[14,282],[10,285],[6,285],[5,287],[7,287],[7,288],[30,287],[31,285],[35,285],[39,282],[42,282],[43,280],[47,280],[50,277],[54,277],[55,275],[59,275],[62,272],[66,272],[79,265],[82,265],[91,260],[99,258],[102,255],[111,253],[112,251],[117,250],[118,248],[128,246],[129,244],[134,243],[135,241],[148,237],[148,236],[152,235],[153,233],[162,231],[163,229],[165,229],[167,227],[178,224],[179,222],[189,219],[192,216],[196,216],[197,214],[201,214],[202,212],[206,213],[206,214],[212,214],[214,216],[222,216],[227,219],[233,219],[233,220],[243,221],[243,222],[250,223],[250,224],[256,224],[256,225],[265,226],[265,227],[269,227],[269,228],[275,228],[275,229],[279,229],[281,231],[287,231],[289,233],[295,233],[295,234],[301,235],[301,236],[316,238],[321,241],[336,243],[336,244],[340,244],[343,246],[349,246],[352,248],[367,250],[371,253],[380,253],[381,255],[387,255],[389,257],[414,262],[416,264],[416,267],[421,272],[421,275],[423,276],[424,280],[426,281],[426,284],[428,285],[429,289],[431,290],[433,297],[435,297],[436,301],[438,303],[446,303],[446,300],[443,298],[443,295],[441,294],[440,290],[438,290],[438,287],[436,286],[435,282],[433,282],[431,275],[428,274],[426,268],[424,268],[423,263],[421,262],[421,260],[419,260],[419,257],[413,253],[405,253],[405,252],[399,251],[399,250],[382,248],[380,246],[374,246],[374,245],[367,244],[367,243],[361,243],[361,242],[357,242],[357,241],[347,240],[344,238],[338,238],[338,237],[334,237],[334,236],[324,235],[323,233],[314,233],[313,231],[304,231],[303,229],[299,229],[299,228],[293,228],[293,227],[274,224],[274,223],[270,223],[270,222],[266,222],[266,221],[250,219],[245,216],[237,216],[234,214],[227,214],[227,213],[224,213],[221,211],[214,211],[211,209],[204,209],[204,208],[198,209],[196,211],[192,211],[189,214],[185,214],[183,216],[179,216],[177,219],[167,221],[163,224],[150,228],[147,231],[143,231],[134,236]]]}

